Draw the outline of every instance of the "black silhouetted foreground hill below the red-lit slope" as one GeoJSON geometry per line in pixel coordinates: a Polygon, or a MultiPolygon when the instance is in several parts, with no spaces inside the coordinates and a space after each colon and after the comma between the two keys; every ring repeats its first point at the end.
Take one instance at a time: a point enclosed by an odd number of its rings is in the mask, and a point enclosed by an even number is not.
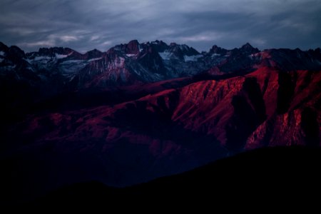
{"type": "Polygon", "coordinates": [[[320,198],[321,149],[261,148],[215,161],[179,175],[158,178],[128,188],[78,183],[59,188],[28,205],[79,208],[94,205],[118,210],[142,210],[147,205],[220,205],[221,202],[265,203],[320,198]],[[207,201],[210,200],[210,203],[207,201]]]}

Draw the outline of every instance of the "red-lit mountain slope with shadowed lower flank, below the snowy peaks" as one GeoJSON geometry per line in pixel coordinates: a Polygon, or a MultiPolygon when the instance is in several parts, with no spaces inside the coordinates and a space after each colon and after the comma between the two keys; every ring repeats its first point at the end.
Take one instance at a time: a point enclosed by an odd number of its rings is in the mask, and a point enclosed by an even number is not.
{"type": "Polygon", "coordinates": [[[320,71],[261,67],[112,106],[34,114],[5,140],[22,160],[41,160],[21,163],[31,174],[57,176],[37,185],[141,183],[246,149],[319,146],[320,82],[320,71]]]}

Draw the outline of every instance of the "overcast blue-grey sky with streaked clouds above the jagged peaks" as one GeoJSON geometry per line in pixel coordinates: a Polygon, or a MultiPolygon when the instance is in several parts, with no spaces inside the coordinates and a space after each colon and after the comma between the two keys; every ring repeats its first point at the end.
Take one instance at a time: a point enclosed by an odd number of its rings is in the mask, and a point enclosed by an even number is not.
{"type": "Polygon", "coordinates": [[[1,0],[0,41],[106,51],[132,39],[208,51],[321,46],[320,0],[1,0]]]}

